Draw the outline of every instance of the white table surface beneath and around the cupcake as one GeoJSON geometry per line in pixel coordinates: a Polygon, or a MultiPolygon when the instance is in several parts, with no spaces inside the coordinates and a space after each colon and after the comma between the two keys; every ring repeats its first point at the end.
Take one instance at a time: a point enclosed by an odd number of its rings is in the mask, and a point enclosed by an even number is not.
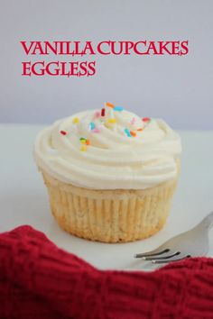
{"type": "MultiPolygon", "coordinates": [[[[60,248],[99,269],[150,269],[134,260],[135,252],[156,248],[171,236],[189,230],[213,210],[213,131],[180,132],[183,145],[181,178],[167,224],[139,242],[89,242],[63,232],[50,213],[47,191],[32,158],[32,145],[42,126],[0,125],[0,232],[29,224],[60,248]]],[[[208,256],[213,257],[213,230],[208,256]]]]}

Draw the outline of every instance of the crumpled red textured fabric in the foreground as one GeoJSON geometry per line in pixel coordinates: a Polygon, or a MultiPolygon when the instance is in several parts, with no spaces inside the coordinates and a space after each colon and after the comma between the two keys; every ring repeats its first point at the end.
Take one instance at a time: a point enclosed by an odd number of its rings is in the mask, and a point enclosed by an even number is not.
{"type": "Polygon", "coordinates": [[[0,318],[213,318],[213,259],[101,271],[30,226],[0,234],[0,318]]]}

